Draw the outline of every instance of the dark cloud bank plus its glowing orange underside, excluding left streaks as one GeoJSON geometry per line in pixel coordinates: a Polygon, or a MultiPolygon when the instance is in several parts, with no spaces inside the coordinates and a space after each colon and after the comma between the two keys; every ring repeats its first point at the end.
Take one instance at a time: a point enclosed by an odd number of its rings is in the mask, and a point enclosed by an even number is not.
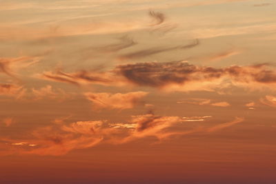
{"type": "Polygon", "coordinates": [[[233,85],[255,88],[258,84],[270,88],[276,84],[275,70],[265,64],[213,68],[184,61],[150,62],[119,65],[115,71],[135,85],[180,91],[215,91],[233,85]]]}

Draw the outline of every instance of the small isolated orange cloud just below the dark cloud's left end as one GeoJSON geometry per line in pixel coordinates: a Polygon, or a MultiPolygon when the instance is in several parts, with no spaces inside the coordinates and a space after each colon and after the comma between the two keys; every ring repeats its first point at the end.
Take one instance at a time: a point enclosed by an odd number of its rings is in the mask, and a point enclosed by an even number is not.
{"type": "Polygon", "coordinates": [[[93,103],[94,108],[130,109],[140,102],[140,99],[148,94],[147,92],[122,93],[85,93],[86,98],[93,103]]]}

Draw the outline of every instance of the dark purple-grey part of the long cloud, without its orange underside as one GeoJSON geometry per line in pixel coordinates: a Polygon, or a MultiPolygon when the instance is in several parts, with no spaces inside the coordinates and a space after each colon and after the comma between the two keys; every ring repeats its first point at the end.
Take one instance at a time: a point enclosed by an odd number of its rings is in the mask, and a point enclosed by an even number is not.
{"type": "Polygon", "coordinates": [[[276,83],[275,70],[268,70],[266,65],[212,68],[173,61],[119,65],[116,71],[131,83],[156,88],[162,88],[168,84],[184,85],[186,82],[212,81],[222,77],[242,83],[276,83]]]}

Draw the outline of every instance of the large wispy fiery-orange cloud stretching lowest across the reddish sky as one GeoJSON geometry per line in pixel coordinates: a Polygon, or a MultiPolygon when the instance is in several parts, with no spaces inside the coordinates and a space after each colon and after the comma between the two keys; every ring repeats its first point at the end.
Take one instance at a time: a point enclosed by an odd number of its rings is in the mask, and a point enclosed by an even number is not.
{"type": "Polygon", "coordinates": [[[244,121],[242,118],[236,118],[234,121],[211,127],[207,123],[189,129],[185,127],[186,123],[184,122],[197,123],[201,119],[205,120],[210,117],[193,116],[181,118],[179,116],[142,114],[132,116],[127,123],[108,123],[107,121],[65,123],[62,121],[37,128],[28,136],[30,137],[29,139],[0,138],[0,147],[5,150],[1,154],[17,153],[58,156],[67,154],[72,150],[93,147],[99,143],[121,144],[146,137],[155,137],[158,141],[162,141],[177,135],[217,132],[244,121]]]}

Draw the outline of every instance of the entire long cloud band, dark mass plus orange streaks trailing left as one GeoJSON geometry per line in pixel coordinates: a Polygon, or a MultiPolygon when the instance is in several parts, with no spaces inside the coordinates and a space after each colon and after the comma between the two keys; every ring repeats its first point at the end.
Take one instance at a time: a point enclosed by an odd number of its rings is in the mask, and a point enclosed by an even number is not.
{"type": "Polygon", "coordinates": [[[117,65],[113,70],[97,72],[43,72],[43,79],[82,84],[136,85],[149,86],[167,91],[210,91],[221,92],[237,87],[249,90],[275,90],[275,68],[268,64],[231,65],[226,68],[213,68],[193,65],[187,61],[166,63],[147,62],[117,65]]]}

